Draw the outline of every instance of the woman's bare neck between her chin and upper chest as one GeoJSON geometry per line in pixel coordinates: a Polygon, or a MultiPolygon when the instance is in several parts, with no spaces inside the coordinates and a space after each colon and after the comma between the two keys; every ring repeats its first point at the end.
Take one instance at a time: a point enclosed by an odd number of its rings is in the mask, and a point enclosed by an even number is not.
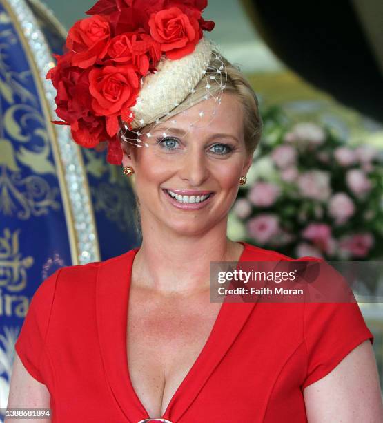
{"type": "Polygon", "coordinates": [[[226,236],[227,217],[199,235],[180,235],[142,222],[143,242],[132,267],[132,283],[160,294],[209,289],[210,261],[238,261],[244,247],[226,236]]]}

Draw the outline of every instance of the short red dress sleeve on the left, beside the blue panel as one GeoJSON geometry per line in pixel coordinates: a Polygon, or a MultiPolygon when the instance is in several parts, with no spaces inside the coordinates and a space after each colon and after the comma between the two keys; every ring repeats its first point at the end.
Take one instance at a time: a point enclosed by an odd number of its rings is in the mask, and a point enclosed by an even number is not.
{"type": "Polygon", "coordinates": [[[14,349],[28,373],[42,384],[44,379],[40,372],[40,360],[45,346],[50,311],[60,271],[61,269],[57,270],[37,288],[30,301],[19,337],[14,344],[14,349]]]}

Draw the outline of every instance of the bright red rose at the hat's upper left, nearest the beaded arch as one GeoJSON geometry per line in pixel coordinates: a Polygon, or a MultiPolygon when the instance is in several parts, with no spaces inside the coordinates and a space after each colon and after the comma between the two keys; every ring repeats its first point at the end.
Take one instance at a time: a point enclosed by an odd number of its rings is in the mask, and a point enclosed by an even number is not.
{"type": "Polygon", "coordinates": [[[72,65],[86,69],[102,59],[110,39],[108,19],[95,15],[81,19],[68,32],[66,47],[73,52],[72,65]]]}

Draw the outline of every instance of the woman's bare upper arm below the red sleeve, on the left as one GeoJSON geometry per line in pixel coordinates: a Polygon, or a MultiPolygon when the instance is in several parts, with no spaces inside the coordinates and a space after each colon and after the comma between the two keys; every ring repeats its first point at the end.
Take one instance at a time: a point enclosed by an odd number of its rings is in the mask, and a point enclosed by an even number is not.
{"type": "MultiPolygon", "coordinates": [[[[28,373],[17,353],[13,361],[7,408],[50,408],[50,393],[48,388],[28,373]]],[[[25,421],[25,419],[6,419],[4,423],[25,421]]],[[[41,420],[28,420],[28,422],[35,421],[40,422],[41,420]]],[[[44,420],[44,422],[47,421],[44,420]]]]}

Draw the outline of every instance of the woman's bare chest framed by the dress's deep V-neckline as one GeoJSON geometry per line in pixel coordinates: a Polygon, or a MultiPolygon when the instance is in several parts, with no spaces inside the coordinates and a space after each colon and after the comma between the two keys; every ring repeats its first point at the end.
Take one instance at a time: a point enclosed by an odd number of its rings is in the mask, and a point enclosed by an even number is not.
{"type": "Polygon", "coordinates": [[[219,313],[208,293],[159,299],[132,290],[127,350],[130,382],[150,417],[161,417],[201,353],[219,313]]]}

